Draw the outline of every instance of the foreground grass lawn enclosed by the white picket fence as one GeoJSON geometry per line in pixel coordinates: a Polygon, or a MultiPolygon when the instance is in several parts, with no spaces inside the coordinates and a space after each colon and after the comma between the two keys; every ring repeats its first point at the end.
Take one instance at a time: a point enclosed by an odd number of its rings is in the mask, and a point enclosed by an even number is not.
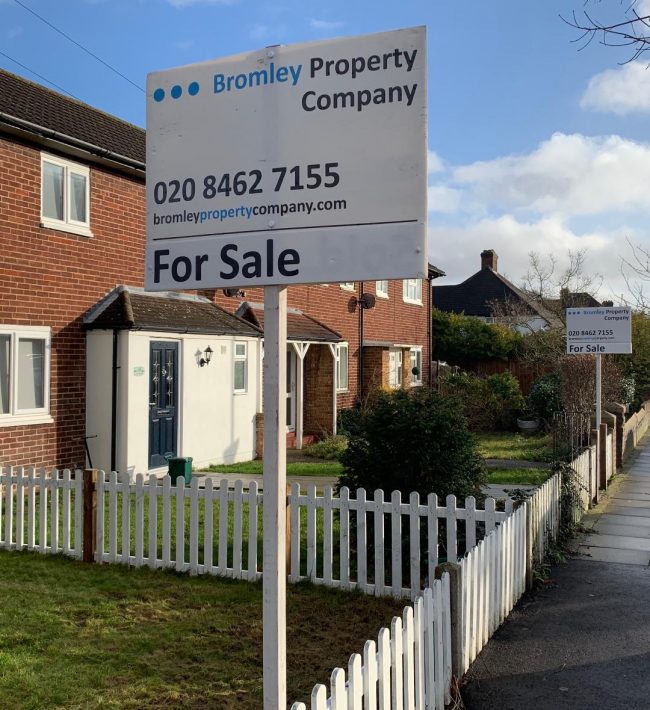
{"type": "MultiPolygon", "coordinates": [[[[0,551],[0,707],[260,708],[262,586],[0,551]]],[[[288,586],[288,700],[404,601],[288,586]]]]}

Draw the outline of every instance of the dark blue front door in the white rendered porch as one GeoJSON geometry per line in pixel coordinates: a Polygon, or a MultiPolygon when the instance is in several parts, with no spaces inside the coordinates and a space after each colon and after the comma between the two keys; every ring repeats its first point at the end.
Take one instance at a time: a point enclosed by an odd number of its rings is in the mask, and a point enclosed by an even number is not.
{"type": "Polygon", "coordinates": [[[154,341],[149,357],[149,468],[176,455],[178,343],[154,341]]]}

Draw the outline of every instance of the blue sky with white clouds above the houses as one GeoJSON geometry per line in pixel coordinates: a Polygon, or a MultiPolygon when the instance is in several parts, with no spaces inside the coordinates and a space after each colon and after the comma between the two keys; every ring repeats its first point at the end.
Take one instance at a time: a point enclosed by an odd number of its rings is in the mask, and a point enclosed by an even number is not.
{"type": "MultiPolygon", "coordinates": [[[[636,3],[650,12],[650,0],[636,3]]],[[[553,254],[561,268],[569,250],[586,249],[587,272],[602,276],[599,295],[619,303],[630,244],[650,249],[650,68],[628,61],[627,48],[583,47],[560,15],[586,8],[621,19],[626,7],[625,0],[0,0],[0,67],[144,126],[138,87],[150,71],[426,25],[429,260],[447,274],[437,283],[469,277],[484,249],[497,252],[499,271],[516,284],[531,252],[553,254]]]]}

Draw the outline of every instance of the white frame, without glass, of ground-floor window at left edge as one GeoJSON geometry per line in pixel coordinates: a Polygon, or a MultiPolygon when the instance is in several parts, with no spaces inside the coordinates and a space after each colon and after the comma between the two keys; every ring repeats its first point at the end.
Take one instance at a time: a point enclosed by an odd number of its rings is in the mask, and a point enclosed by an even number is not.
{"type": "Polygon", "coordinates": [[[9,411],[0,412],[0,427],[53,422],[54,419],[50,414],[52,329],[38,326],[0,324],[0,336],[9,336],[9,411]],[[18,408],[18,364],[21,340],[42,340],[44,343],[42,407],[18,408]]]}

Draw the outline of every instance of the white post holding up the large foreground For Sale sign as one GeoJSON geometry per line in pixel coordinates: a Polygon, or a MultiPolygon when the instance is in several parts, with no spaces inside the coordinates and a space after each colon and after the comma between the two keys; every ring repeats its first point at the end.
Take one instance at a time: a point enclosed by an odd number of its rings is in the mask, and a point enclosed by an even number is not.
{"type": "Polygon", "coordinates": [[[264,289],[264,710],[287,707],[287,289],[264,289]]]}

